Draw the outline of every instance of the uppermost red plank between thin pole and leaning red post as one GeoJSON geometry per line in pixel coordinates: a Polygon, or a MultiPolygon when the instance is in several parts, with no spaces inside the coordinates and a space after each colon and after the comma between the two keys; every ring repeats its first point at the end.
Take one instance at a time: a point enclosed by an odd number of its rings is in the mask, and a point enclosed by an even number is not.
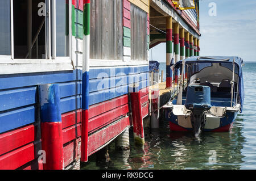
{"type": "Polygon", "coordinates": [[[128,103],[128,95],[119,96],[111,100],[107,100],[102,103],[94,104],[89,107],[89,119],[95,116],[101,115],[102,113],[114,110],[119,106],[123,106],[128,103]]]}

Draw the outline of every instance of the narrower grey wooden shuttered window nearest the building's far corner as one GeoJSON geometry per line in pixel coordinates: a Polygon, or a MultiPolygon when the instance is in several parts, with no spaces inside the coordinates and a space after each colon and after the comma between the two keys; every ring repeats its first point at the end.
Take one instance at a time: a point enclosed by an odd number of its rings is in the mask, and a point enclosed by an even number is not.
{"type": "Polygon", "coordinates": [[[133,4],[131,4],[131,60],[147,60],[147,13],[133,4]]]}

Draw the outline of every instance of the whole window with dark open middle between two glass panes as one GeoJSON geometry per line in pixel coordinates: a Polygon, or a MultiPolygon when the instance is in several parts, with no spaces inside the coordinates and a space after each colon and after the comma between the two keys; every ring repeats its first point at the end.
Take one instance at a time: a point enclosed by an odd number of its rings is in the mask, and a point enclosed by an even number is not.
{"type": "Polygon", "coordinates": [[[1,0],[0,55],[15,59],[69,57],[70,11],[71,0],[1,0]]]}

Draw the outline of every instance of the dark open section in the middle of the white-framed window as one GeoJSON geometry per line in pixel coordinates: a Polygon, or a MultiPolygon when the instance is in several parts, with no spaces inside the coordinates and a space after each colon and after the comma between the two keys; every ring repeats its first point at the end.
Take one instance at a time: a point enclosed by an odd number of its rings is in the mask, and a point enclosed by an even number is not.
{"type": "Polygon", "coordinates": [[[13,0],[14,58],[46,58],[46,16],[39,16],[43,0],[13,0]]]}

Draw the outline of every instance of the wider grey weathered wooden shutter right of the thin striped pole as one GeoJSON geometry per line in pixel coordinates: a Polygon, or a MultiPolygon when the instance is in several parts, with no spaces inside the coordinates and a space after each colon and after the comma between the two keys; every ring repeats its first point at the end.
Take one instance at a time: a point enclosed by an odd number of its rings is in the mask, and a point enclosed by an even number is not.
{"type": "Polygon", "coordinates": [[[90,2],[90,58],[122,60],[122,1],[90,2]]]}

